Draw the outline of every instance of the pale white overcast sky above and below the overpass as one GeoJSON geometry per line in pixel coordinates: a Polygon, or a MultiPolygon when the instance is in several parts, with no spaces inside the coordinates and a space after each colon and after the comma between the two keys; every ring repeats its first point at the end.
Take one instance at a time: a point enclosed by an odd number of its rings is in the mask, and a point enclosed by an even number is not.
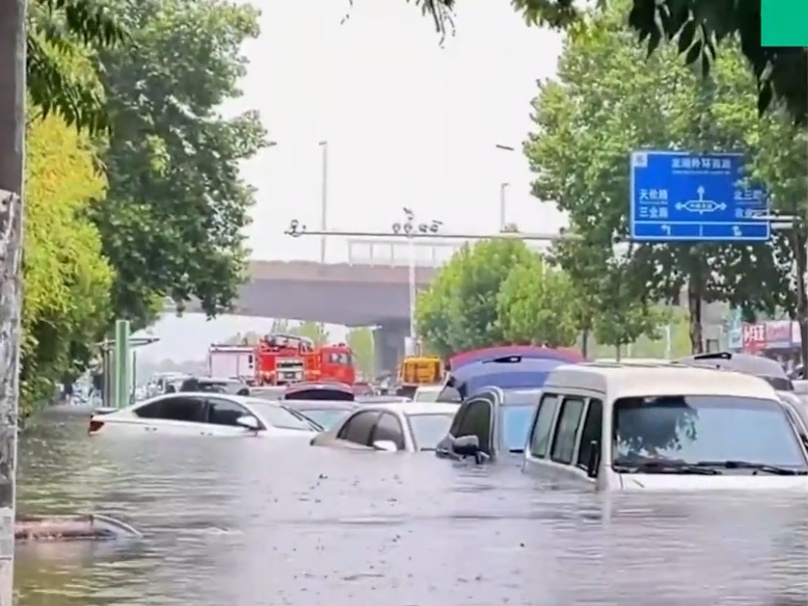
{"type": "MultiPolygon", "coordinates": [[[[321,140],[329,142],[330,229],[386,231],[409,206],[447,232],[490,234],[502,182],[511,184],[508,222],[526,232],[563,225],[552,204],[530,196],[521,154],[535,81],[555,73],[561,37],[527,28],[506,0],[460,5],[457,34],[441,48],[431,21],[405,0],[355,0],[344,25],[347,0],[265,0],[261,37],[245,49],[245,95],[227,108],[258,109],[278,142],[244,166],[258,189],[254,258],[319,257],[318,238],[283,230],[294,218],[319,227],[321,140]]],[[[347,250],[330,239],[328,260],[347,260],[347,250]]],[[[269,321],[168,316],[152,330],[161,342],[141,355],[202,358],[212,341],[260,329],[269,321]]]]}

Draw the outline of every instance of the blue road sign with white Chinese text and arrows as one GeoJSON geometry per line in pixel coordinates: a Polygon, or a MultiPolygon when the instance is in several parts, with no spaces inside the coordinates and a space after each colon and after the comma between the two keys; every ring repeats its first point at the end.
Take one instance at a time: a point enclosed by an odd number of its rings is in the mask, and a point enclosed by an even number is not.
{"type": "Polygon", "coordinates": [[[743,155],[631,154],[631,239],[760,242],[771,237],[766,190],[744,181],[743,155]]]}

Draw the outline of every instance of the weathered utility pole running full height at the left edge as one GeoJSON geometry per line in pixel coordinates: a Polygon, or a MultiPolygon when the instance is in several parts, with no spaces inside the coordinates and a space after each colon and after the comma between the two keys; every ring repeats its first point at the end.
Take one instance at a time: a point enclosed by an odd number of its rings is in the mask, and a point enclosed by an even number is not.
{"type": "Polygon", "coordinates": [[[26,0],[0,0],[0,606],[14,596],[26,0]]]}

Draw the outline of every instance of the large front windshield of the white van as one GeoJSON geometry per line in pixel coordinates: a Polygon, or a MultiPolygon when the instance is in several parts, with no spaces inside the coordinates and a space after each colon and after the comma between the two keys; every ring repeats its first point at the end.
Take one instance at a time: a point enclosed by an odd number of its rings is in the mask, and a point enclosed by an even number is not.
{"type": "Polygon", "coordinates": [[[623,398],[614,403],[615,464],[743,461],[804,469],[783,404],[734,396],[623,398]]]}

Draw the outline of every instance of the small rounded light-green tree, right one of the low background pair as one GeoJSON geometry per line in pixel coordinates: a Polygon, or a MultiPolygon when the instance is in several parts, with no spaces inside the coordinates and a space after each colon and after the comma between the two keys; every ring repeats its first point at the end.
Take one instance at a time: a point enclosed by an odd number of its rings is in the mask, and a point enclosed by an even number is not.
{"type": "Polygon", "coordinates": [[[569,347],[579,333],[576,303],[569,276],[536,255],[515,266],[502,283],[497,321],[507,341],[569,347]]]}

